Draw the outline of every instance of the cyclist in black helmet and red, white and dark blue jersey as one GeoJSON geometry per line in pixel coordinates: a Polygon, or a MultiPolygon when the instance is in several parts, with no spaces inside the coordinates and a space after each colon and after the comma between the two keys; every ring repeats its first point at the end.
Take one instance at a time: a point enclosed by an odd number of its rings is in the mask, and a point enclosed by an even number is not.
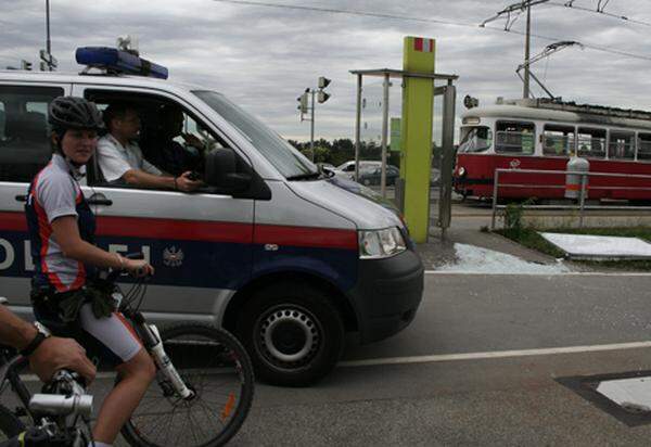
{"type": "MultiPolygon", "coordinates": [[[[94,103],[60,97],[49,107],[52,159],[29,186],[25,213],[35,276],[31,301],[39,321],[75,336],[91,356],[115,367],[120,381],[102,403],[94,445],[111,446],[155,376],[155,367],[133,329],[116,314],[113,290],[93,267],[153,274],[145,260],[94,245],[94,216],[78,180],[95,152],[103,122],[94,103]]],[[[92,357],[91,357],[92,358],[92,357]]]]}

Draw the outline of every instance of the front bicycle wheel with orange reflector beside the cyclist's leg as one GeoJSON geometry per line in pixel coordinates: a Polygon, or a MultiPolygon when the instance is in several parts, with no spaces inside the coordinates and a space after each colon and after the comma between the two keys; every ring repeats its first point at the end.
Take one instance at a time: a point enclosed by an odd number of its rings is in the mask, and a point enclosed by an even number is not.
{"type": "Polygon", "coordinates": [[[201,323],[165,328],[161,340],[195,397],[186,400],[176,395],[158,372],[124,425],[123,436],[132,446],[225,445],[253,403],[253,367],[244,347],[227,331],[201,323]]]}

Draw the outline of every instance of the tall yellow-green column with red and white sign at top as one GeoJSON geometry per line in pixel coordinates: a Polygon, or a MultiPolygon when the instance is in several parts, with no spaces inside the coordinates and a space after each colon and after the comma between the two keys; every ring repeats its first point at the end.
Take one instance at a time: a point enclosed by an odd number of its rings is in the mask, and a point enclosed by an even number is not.
{"type": "MultiPolygon", "coordinates": [[[[405,37],[403,69],[434,74],[434,39],[405,37]]],[[[405,77],[403,87],[403,161],[405,220],[416,242],[425,242],[430,227],[433,79],[405,77]]]]}

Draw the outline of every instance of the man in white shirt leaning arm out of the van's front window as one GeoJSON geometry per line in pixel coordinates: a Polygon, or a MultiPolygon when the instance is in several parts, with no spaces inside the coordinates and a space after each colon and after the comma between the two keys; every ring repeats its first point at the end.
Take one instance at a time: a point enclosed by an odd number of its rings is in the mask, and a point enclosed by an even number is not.
{"type": "Polygon", "coordinates": [[[136,108],[127,103],[114,103],[104,111],[108,133],[98,141],[98,164],[106,181],[122,180],[141,188],[159,188],[194,191],[201,181],[189,178],[190,171],[178,177],[161,171],[142,156],[136,142],[140,132],[140,118],[136,108]]]}

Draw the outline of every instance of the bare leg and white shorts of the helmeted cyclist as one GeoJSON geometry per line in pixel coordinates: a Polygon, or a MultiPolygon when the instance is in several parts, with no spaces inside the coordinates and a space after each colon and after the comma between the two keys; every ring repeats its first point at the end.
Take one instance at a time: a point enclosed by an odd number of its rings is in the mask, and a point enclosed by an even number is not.
{"type": "Polygon", "coordinates": [[[95,440],[112,444],[155,378],[156,368],[122,315],[98,319],[91,305],[86,304],[79,311],[79,321],[85,335],[103,347],[104,359],[113,363],[122,376],[102,403],[93,429],[95,440]]]}

